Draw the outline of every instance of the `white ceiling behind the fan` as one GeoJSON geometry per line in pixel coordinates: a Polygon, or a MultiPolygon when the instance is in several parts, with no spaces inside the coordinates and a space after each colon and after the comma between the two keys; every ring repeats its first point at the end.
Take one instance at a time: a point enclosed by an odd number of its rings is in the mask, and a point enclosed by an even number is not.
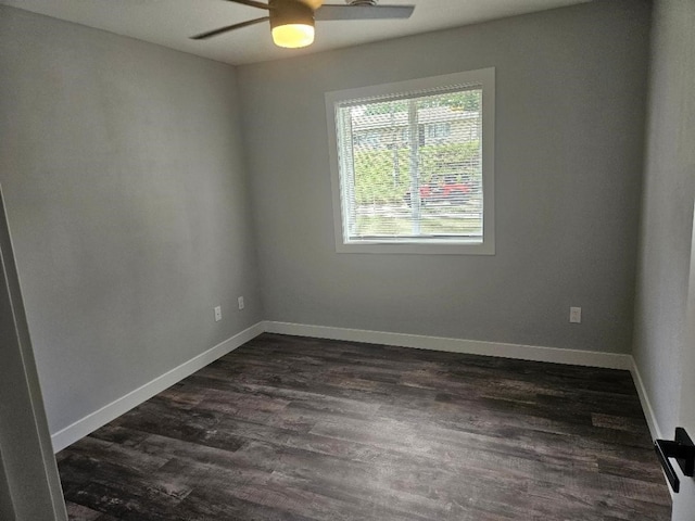
{"type": "Polygon", "coordinates": [[[0,3],[239,65],[587,1],[591,0],[381,0],[381,4],[415,4],[415,13],[409,20],[317,22],[316,41],[300,50],[275,47],[267,23],[210,40],[189,39],[199,33],[266,15],[263,10],[225,0],[0,0],[0,3]]]}

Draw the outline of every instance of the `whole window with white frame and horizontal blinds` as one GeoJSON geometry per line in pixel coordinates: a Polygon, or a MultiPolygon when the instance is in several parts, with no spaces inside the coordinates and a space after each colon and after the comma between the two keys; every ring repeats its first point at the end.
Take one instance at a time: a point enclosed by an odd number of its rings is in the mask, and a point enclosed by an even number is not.
{"type": "Polygon", "coordinates": [[[494,254],[494,68],[328,92],[336,247],[494,254]]]}

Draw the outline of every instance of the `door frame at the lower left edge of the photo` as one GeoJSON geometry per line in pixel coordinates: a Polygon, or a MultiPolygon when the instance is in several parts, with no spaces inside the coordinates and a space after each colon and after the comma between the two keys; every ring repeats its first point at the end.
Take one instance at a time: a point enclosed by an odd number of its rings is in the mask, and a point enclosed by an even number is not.
{"type": "Polygon", "coordinates": [[[0,511],[17,521],[67,521],[1,186],[0,340],[0,511]]]}

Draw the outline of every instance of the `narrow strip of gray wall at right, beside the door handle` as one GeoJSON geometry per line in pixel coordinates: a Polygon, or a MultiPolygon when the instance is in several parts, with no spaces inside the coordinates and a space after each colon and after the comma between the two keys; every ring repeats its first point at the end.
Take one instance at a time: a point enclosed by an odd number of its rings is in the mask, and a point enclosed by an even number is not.
{"type": "MultiPolygon", "coordinates": [[[[678,421],[684,352],[694,348],[686,343],[686,304],[695,202],[695,4],[655,5],[634,357],[668,437],[678,421]]],[[[692,407],[692,396],[682,406],[692,407]]]]}

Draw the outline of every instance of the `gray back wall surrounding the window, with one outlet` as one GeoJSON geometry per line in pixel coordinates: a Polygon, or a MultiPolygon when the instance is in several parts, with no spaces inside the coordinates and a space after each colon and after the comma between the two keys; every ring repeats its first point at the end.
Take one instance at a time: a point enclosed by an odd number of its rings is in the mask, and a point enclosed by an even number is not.
{"type": "Polygon", "coordinates": [[[628,353],[648,17],[595,2],[240,67],[266,318],[628,353]],[[324,92],[490,66],[496,255],[337,254],[324,92]]]}

